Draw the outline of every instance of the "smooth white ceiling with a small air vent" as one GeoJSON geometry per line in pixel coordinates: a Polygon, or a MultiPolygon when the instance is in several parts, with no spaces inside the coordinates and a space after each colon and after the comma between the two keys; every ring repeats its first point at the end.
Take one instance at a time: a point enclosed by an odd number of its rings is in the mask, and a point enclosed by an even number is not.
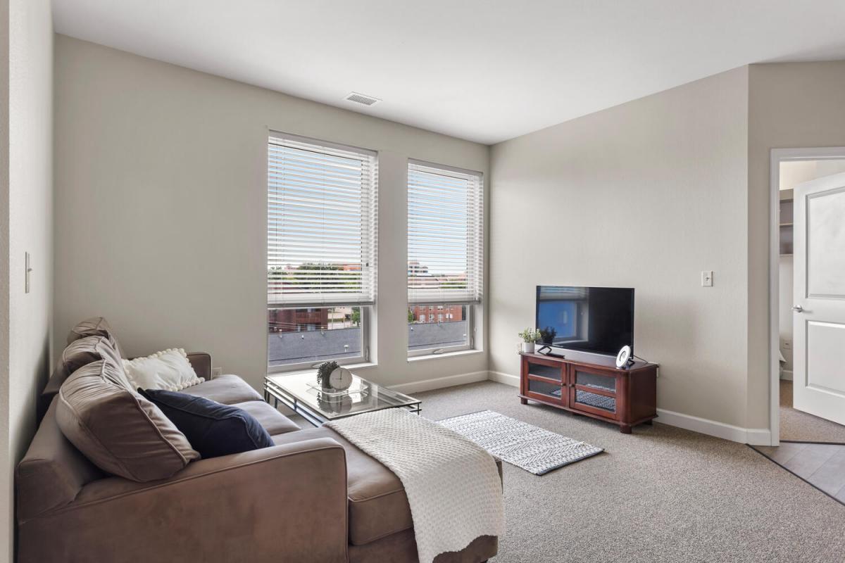
{"type": "Polygon", "coordinates": [[[58,33],[481,143],[751,62],[845,59],[842,0],[53,5],[58,33]]]}

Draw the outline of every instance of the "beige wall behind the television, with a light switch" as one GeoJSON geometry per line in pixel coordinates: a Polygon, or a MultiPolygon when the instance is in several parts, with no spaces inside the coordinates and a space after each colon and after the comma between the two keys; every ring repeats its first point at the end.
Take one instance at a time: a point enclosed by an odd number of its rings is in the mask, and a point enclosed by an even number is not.
{"type": "Polygon", "coordinates": [[[747,100],[739,68],[493,146],[492,371],[535,285],[633,287],[658,407],[746,426],[747,100]]]}

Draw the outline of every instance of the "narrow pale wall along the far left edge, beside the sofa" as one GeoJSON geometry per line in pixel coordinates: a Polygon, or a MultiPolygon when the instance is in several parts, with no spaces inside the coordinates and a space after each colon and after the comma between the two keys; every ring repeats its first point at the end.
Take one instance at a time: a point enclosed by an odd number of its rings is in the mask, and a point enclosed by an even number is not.
{"type": "Polygon", "coordinates": [[[12,472],[35,431],[35,394],[46,382],[50,365],[53,31],[50,0],[4,1],[0,9],[4,51],[0,95],[0,561],[4,561],[12,560],[14,549],[12,472]],[[24,289],[25,252],[32,256],[29,294],[24,289]]]}

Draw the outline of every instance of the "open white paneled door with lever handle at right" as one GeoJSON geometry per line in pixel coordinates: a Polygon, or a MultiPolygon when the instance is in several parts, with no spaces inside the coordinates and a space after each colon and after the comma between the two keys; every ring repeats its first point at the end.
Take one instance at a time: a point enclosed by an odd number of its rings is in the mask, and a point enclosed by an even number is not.
{"type": "Polygon", "coordinates": [[[794,198],[793,406],[845,425],[845,174],[794,198]]]}

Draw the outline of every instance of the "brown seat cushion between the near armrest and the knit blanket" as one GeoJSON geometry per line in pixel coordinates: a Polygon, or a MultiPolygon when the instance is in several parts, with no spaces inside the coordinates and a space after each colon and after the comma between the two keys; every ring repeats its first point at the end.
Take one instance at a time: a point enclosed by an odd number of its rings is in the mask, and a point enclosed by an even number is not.
{"type": "Polygon", "coordinates": [[[346,451],[350,543],[368,544],[413,528],[411,506],[399,478],[334,430],[309,428],[273,436],[273,441],[278,445],[317,437],[330,437],[346,451]]]}

